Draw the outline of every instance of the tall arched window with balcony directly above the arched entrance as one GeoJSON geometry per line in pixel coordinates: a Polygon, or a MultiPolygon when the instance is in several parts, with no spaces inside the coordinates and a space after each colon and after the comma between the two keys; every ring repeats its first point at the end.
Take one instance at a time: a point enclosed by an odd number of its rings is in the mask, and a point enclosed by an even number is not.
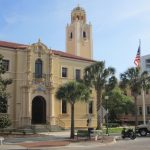
{"type": "Polygon", "coordinates": [[[42,60],[35,61],[35,78],[42,78],[42,60]]]}

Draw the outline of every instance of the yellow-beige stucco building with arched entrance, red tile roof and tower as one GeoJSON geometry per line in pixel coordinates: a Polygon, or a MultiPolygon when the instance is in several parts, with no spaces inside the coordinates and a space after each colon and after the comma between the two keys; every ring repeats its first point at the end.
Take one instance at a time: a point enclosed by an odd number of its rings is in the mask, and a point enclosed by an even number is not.
{"type": "MultiPolygon", "coordinates": [[[[56,90],[63,83],[82,78],[84,68],[94,62],[92,26],[79,6],[72,10],[66,27],[66,50],[49,49],[40,40],[31,45],[0,41],[7,70],[4,77],[13,79],[8,87],[7,112],[13,127],[70,127],[70,105],[55,98],[56,90]]],[[[94,92],[89,103],[75,104],[75,127],[86,127],[89,116],[96,126],[95,106],[94,92]]]]}

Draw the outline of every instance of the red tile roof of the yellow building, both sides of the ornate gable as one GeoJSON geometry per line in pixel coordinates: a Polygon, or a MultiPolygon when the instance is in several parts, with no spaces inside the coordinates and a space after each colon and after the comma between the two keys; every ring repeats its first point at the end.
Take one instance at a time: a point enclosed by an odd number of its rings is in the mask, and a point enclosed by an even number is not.
{"type": "MultiPolygon", "coordinates": [[[[12,43],[12,42],[6,42],[6,41],[0,41],[0,47],[7,47],[12,49],[25,49],[28,45],[24,44],[18,44],[18,43],[12,43]]],[[[61,57],[71,58],[71,59],[78,59],[78,60],[84,60],[84,61],[91,61],[94,62],[94,60],[83,58],[80,56],[72,55],[66,52],[58,51],[58,50],[52,50],[54,55],[58,55],[61,57]]]]}

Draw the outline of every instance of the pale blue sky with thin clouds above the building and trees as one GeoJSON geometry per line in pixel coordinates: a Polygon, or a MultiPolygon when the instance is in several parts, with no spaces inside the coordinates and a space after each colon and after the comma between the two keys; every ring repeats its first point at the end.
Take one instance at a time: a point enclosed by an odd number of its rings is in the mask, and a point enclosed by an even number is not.
{"type": "Polygon", "coordinates": [[[0,0],[0,40],[40,38],[65,51],[66,25],[78,4],[93,27],[93,59],[115,67],[117,76],[134,66],[139,39],[142,55],[150,54],[150,0],[0,0]]]}

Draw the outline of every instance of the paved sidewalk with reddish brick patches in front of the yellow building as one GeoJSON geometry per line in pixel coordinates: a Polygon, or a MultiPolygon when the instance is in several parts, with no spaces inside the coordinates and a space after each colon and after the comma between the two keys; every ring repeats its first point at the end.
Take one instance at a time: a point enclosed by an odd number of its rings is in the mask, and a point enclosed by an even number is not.
{"type": "Polygon", "coordinates": [[[100,139],[98,141],[87,140],[87,139],[69,139],[69,131],[63,132],[48,132],[40,133],[38,135],[26,135],[20,137],[7,137],[5,138],[3,145],[0,145],[0,150],[7,149],[32,149],[32,148],[42,148],[42,147],[77,147],[77,146],[101,146],[104,144],[114,142],[113,136],[105,136],[103,141],[100,139]]]}

